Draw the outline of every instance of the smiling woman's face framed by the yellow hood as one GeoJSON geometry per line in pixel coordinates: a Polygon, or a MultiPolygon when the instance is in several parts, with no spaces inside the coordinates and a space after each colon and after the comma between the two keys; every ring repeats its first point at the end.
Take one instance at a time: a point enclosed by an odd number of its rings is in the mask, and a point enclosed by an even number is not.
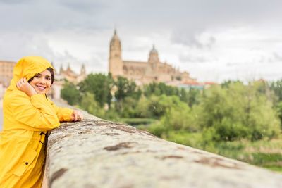
{"type": "Polygon", "coordinates": [[[30,84],[38,94],[46,94],[51,87],[51,73],[49,70],[44,70],[33,77],[30,84]]]}

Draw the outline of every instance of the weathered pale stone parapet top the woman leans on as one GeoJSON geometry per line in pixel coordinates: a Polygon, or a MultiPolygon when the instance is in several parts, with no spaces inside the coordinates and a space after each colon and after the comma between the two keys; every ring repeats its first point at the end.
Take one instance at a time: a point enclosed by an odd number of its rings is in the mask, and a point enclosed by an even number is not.
{"type": "Polygon", "coordinates": [[[51,132],[44,187],[281,188],[282,175],[89,115],[51,132]]]}

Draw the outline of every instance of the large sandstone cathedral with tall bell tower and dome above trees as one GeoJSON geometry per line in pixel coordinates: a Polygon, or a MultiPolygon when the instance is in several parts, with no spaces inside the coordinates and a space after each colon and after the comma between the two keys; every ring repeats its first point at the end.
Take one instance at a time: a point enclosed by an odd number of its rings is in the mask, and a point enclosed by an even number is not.
{"type": "Polygon", "coordinates": [[[134,80],[137,85],[164,82],[177,86],[188,82],[196,82],[195,79],[190,77],[189,73],[180,72],[166,62],[162,63],[154,46],[149,51],[147,62],[123,60],[121,56],[121,40],[118,38],[116,30],[110,42],[109,73],[114,78],[122,76],[128,78],[128,80],[134,80]]]}

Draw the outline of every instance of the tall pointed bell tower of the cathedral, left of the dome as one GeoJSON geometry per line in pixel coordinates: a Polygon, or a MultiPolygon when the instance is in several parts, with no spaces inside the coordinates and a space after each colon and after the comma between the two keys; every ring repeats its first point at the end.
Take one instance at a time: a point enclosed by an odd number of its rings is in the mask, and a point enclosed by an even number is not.
{"type": "Polygon", "coordinates": [[[116,78],[118,75],[123,75],[123,61],[121,59],[121,41],[116,35],[111,38],[110,51],[109,51],[109,73],[116,78]]]}

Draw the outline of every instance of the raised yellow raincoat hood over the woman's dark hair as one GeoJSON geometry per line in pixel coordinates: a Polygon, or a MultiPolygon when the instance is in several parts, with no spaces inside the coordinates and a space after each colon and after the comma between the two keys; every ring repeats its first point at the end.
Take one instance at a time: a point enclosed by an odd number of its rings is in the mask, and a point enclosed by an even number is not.
{"type": "Polygon", "coordinates": [[[17,89],[16,82],[18,82],[20,78],[25,77],[26,80],[30,80],[30,78],[47,68],[53,68],[53,66],[45,58],[39,56],[26,56],[21,58],[13,68],[13,79],[7,90],[11,91],[17,89]]]}

